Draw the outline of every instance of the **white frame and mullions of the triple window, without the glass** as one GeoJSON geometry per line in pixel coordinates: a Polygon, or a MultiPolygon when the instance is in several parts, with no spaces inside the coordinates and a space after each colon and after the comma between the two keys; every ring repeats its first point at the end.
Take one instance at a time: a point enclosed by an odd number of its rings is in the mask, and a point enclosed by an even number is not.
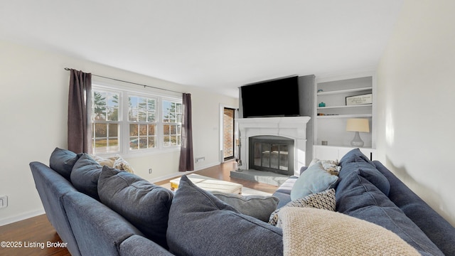
{"type": "MultiPolygon", "coordinates": [[[[183,107],[183,100],[181,94],[179,93],[163,93],[158,90],[153,90],[150,88],[140,88],[137,85],[116,85],[112,84],[111,82],[100,82],[100,81],[93,81],[92,82],[92,90],[100,90],[100,91],[110,91],[110,92],[118,92],[119,93],[119,151],[116,152],[102,152],[102,153],[95,153],[100,156],[109,156],[114,154],[121,154],[122,156],[141,156],[141,155],[149,155],[149,154],[162,154],[166,152],[173,152],[173,151],[180,151],[181,142],[178,145],[172,146],[164,146],[164,122],[163,122],[163,102],[164,100],[170,102],[180,103],[183,107]],[[155,122],[156,128],[156,146],[154,148],[148,149],[130,149],[129,142],[130,142],[130,133],[129,133],[129,125],[134,123],[129,121],[129,97],[136,96],[136,97],[147,97],[147,98],[154,98],[156,99],[156,110],[155,110],[155,122]]],[[[90,113],[92,113],[92,106],[90,106],[90,113]]],[[[90,115],[90,126],[93,127],[94,121],[90,115]]],[[[137,122],[137,124],[143,124],[143,122],[137,122]]],[[[149,123],[150,124],[150,123],[149,123]]],[[[175,124],[175,123],[173,123],[175,124]]],[[[180,123],[181,125],[181,123],[180,123]]],[[[93,132],[92,132],[93,134],[93,132]]],[[[180,137],[181,139],[181,137],[180,137]]],[[[90,142],[94,142],[93,137],[91,138],[90,142]]],[[[90,145],[91,149],[93,145],[90,145]]]]}

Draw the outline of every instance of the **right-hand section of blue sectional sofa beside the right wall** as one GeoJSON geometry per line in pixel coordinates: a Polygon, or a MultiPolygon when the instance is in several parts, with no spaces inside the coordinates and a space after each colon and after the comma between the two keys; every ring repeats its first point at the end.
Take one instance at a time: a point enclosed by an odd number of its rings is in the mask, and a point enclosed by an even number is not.
{"type": "MultiPolygon", "coordinates": [[[[455,228],[380,161],[353,149],[339,164],[336,211],[392,230],[421,255],[455,255],[455,228]]],[[[291,176],[274,193],[278,207],[291,201],[297,180],[291,176]]]]}

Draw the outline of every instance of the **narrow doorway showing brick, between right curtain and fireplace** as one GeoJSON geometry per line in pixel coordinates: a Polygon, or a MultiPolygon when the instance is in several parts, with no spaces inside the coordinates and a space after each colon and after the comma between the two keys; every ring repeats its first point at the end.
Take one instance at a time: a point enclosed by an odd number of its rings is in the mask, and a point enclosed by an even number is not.
{"type": "Polygon", "coordinates": [[[223,110],[223,159],[235,157],[235,109],[224,107],[223,110]]]}

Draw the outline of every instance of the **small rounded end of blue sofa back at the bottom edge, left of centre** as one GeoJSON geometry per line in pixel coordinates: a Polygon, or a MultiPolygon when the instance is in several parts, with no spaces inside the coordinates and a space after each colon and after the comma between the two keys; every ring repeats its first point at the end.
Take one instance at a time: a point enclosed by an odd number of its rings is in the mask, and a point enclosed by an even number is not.
{"type": "Polygon", "coordinates": [[[150,255],[150,256],[166,256],[173,255],[163,247],[156,244],[152,240],[142,237],[141,235],[132,235],[124,240],[120,246],[119,251],[121,256],[137,256],[137,255],[150,255]]]}

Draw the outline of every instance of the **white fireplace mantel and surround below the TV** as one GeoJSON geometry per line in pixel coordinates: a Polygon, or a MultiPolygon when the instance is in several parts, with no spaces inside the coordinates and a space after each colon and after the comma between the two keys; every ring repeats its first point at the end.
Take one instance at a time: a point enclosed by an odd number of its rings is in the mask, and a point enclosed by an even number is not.
{"type": "Polygon", "coordinates": [[[240,118],[237,124],[240,131],[240,169],[249,169],[248,148],[250,137],[269,135],[294,139],[294,175],[299,176],[301,166],[305,166],[306,123],[311,117],[258,117],[240,118]]]}

